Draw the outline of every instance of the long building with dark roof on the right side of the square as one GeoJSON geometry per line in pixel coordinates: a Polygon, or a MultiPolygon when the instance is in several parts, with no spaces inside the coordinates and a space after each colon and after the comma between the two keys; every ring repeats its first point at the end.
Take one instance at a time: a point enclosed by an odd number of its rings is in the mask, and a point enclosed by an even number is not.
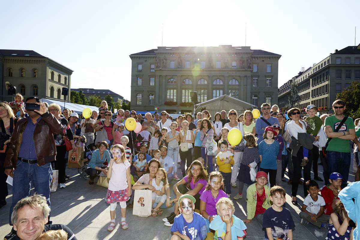
{"type": "Polygon", "coordinates": [[[352,81],[360,80],[360,45],[335,50],[319,63],[300,72],[278,90],[279,107],[287,106],[291,81],[297,83],[300,106],[314,104],[319,113],[332,113],[336,94],[343,91],[352,81]]]}

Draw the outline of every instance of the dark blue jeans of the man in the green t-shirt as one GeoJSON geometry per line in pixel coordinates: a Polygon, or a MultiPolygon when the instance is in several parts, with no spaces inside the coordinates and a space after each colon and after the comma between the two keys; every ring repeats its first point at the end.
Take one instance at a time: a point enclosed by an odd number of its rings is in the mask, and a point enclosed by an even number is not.
{"type": "Polygon", "coordinates": [[[337,151],[326,151],[326,162],[329,168],[329,174],[333,172],[340,173],[344,181],[341,187],[347,186],[347,180],[349,179],[349,169],[351,163],[350,153],[341,153],[337,151]]]}

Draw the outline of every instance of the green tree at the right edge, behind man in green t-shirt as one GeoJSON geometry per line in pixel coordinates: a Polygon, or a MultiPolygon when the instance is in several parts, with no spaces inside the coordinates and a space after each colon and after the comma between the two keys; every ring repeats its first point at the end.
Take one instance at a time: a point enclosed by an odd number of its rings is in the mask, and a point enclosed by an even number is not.
{"type": "MultiPolygon", "coordinates": [[[[352,117],[354,119],[360,118],[360,82],[354,81],[350,83],[344,91],[339,92],[336,95],[336,99],[345,101],[346,108],[344,115],[352,117]]],[[[330,103],[332,104],[332,103],[330,103]]],[[[331,109],[331,106],[327,106],[331,109]]]]}

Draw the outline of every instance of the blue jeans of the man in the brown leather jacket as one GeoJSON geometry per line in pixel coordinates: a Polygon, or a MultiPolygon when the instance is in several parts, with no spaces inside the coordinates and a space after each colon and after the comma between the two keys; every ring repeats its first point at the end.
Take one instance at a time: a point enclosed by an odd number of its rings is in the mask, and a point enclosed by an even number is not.
{"type": "Polygon", "coordinates": [[[50,163],[37,166],[36,163],[30,164],[17,160],[13,178],[13,203],[10,207],[10,225],[12,225],[11,214],[13,213],[13,208],[19,200],[30,195],[31,183],[37,194],[45,196],[46,202],[50,207],[50,184],[52,180],[53,168],[51,168],[50,163]]]}

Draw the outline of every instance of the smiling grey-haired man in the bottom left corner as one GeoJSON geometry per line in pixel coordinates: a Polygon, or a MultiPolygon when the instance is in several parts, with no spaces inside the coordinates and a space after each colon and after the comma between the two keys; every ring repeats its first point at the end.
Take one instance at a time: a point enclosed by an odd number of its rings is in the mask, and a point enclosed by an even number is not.
{"type": "Polygon", "coordinates": [[[46,198],[33,195],[21,199],[15,205],[11,215],[16,235],[9,240],[36,240],[44,232],[62,229],[67,232],[67,239],[77,240],[75,234],[65,225],[46,225],[50,214],[50,207],[46,198]]]}

